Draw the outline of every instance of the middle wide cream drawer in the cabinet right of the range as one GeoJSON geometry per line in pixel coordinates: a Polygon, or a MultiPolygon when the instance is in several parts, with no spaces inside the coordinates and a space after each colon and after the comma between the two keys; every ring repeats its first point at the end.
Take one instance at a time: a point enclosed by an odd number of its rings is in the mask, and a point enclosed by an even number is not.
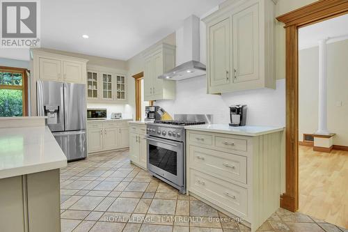
{"type": "Polygon", "coordinates": [[[211,176],[246,184],[246,157],[189,146],[189,165],[211,176]]]}

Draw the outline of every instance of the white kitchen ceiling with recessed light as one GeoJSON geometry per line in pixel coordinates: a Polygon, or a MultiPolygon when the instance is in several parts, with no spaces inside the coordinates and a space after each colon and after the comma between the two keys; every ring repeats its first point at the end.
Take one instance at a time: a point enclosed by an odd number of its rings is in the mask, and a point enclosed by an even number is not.
{"type": "Polygon", "coordinates": [[[41,46],[127,60],[173,33],[189,15],[199,17],[223,1],[40,1],[41,46]]]}

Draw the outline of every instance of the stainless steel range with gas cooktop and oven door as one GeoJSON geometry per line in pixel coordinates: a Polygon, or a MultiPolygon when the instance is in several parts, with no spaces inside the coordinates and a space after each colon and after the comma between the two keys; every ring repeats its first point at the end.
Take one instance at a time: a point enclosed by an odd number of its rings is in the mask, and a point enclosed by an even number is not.
{"type": "Polygon", "coordinates": [[[185,125],[211,122],[211,115],[174,116],[174,121],[147,123],[148,171],[155,177],[186,193],[185,125]]]}

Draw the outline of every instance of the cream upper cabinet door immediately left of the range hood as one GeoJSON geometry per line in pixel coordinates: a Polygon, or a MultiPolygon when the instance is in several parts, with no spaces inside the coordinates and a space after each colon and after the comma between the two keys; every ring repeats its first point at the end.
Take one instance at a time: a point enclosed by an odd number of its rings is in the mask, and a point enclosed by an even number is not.
{"type": "Polygon", "coordinates": [[[158,79],[160,75],[164,73],[163,70],[163,54],[162,52],[157,52],[152,56],[153,64],[153,75],[152,75],[152,93],[156,95],[156,99],[162,99],[161,95],[163,93],[163,79],[158,79]]]}

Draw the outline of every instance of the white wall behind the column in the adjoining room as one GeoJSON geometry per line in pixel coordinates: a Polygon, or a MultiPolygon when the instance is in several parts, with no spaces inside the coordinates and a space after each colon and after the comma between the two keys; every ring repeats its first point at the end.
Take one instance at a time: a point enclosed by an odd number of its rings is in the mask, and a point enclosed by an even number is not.
{"type": "MultiPolygon", "coordinates": [[[[301,39],[301,38],[300,38],[301,39]]],[[[328,129],[333,144],[348,146],[348,40],[327,45],[328,129]],[[341,105],[342,104],[342,105],[341,105]]],[[[299,51],[299,141],[317,131],[319,50],[299,51]]]]}

